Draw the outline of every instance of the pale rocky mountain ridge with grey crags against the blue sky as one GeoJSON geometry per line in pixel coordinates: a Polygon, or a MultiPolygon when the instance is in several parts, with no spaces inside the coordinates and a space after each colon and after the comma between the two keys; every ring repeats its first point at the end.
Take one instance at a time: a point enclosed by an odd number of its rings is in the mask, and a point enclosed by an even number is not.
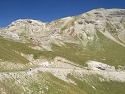
{"type": "Polygon", "coordinates": [[[42,44],[61,42],[87,42],[98,39],[98,30],[106,37],[124,46],[125,10],[95,9],[87,13],[58,19],[49,23],[32,19],[20,19],[0,30],[5,38],[35,41],[42,44]],[[25,38],[24,38],[25,37],[25,38]],[[77,38],[77,40],[76,40],[77,38]]]}

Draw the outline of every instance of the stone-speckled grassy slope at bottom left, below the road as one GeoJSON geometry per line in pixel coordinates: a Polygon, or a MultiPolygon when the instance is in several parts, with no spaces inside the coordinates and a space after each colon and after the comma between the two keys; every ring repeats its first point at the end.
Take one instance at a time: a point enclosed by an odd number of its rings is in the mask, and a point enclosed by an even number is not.
{"type": "Polygon", "coordinates": [[[42,91],[44,94],[88,94],[78,86],[64,82],[48,72],[34,75],[35,77],[23,74],[17,78],[5,77],[0,81],[0,88],[5,89],[7,94],[42,94],[42,91]],[[17,80],[21,82],[17,83],[17,80]]]}

